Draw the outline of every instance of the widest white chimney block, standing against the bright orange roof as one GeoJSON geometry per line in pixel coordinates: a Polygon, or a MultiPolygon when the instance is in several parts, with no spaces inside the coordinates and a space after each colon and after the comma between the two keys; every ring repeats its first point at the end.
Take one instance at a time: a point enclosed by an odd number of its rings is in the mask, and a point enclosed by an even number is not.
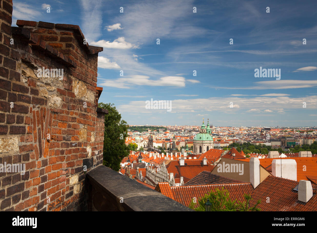
{"type": "Polygon", "coordinates": [[[295,159],[273,159],[272,175],[290,180],[297,180],[297,164],[295,159]],[[282,162],[282,164],[281,164],[282,162]],[[281,176],[282,165],[282,176],[281,176]]]}

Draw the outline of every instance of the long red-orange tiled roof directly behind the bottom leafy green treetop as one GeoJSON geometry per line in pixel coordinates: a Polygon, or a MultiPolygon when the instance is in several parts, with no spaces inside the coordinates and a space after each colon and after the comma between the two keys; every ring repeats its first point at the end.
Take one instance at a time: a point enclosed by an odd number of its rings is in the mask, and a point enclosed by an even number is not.
{"type": "Polygon", "coordinates": [[[236,199],[241,202],[245,201],[243,197],[244,194],[251,194],[253,191],[251,183],[184,185],[180,187],[170,187],[168,183],[159,183],[155,190],[185,206],[189,206],[194,197],[196,197],[198,201],[210,191],[215,192],[222,187],[228,190],[231,200],[236,199]]]}

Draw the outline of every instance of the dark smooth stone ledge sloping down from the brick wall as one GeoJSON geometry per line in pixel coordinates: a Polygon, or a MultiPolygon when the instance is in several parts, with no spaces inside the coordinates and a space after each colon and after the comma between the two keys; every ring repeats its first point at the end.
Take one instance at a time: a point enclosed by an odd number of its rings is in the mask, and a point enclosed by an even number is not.
{"type": "Polygon", "coordinates": [[[193,211],[103,165],[87,172],[87,181],[96,190],[94,197],[89,199],[93,199],[91,203],[94,202],[97,210],[193,211]],[[121,197],[123,197],[123,203],[120,203],[121,197]]]}

